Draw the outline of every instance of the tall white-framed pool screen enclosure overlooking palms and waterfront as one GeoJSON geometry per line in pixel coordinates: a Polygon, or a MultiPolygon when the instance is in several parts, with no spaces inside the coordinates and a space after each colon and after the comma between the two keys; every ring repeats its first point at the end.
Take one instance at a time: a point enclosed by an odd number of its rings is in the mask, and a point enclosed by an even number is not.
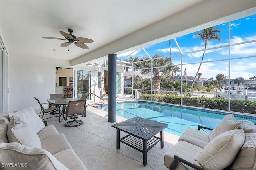
{"type": "MultiPolygon", "coordinates": [[[[117,55],[117,65],[124,67],[124,94],[156,102],[255,112],[256,32],[246,26],[256,27],[255,18],[240,18],[117,55]]],[[[106,67],[108,59],[88,65],[106,67]]]]}

